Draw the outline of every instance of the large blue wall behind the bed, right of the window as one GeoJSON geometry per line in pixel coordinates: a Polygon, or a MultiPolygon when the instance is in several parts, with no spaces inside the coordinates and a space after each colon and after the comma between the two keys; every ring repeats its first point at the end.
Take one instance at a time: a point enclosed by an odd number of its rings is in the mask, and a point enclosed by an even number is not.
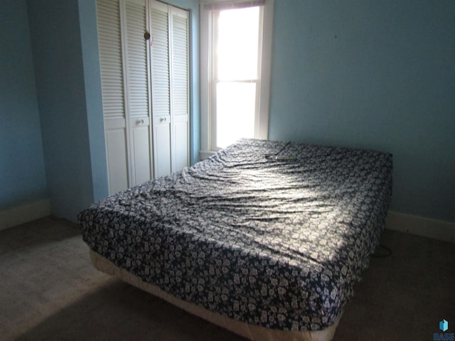
{"type": "Polygon", "coordinates": [[[269,138],[393,153],[392,210],[455,221],[455,1],[277,0],[269,138]]]}

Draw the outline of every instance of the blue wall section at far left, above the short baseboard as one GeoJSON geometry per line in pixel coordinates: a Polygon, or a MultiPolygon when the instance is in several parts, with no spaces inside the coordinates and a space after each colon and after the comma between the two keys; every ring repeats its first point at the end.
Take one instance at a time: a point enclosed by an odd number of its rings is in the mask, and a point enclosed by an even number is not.
{"type": "Polygon", "coordinates": [[[0,211],[48,196],[26,0],[0,2],[0,211]]]}

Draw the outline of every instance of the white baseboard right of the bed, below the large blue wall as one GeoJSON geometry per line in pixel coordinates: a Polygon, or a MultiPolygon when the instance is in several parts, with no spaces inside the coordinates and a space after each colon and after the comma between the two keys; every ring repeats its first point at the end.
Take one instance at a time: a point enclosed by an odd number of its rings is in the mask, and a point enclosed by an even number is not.
{"type": "Polygon", "coordinates": [[[444,242],[455,242],[455,222],[389,211],[385,220],[385,228],[439,239],[444,242]]]}

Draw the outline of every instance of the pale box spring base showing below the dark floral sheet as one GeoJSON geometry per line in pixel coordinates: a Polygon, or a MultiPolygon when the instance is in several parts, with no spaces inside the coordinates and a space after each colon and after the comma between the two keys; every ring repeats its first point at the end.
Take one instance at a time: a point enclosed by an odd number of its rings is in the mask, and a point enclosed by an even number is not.
{"type": "Polygon", "coordinates": [[[178,308],[188,311],[193,315],[208,320],[210,323],[219,325],[222,328],[235,332],[235,334],[246,337],[252,341],[330,341],[333,339],[336,327],[340,322],[341,315],[338,316],[335,323],[324,330],[317,331],[293,331],[293,330],[272,330],[258,325],[250,325],[248,323],[227,318],[219,313],[213,313],[210,310],[200,307],[199,305],[182,301],[165,291],[162,291],[158,286],[141,281],[141,279],[128,271],[115,266],[105,257],[90,250],[90,259],[96,269],[105,272],[106,274],[120,278],[122,281],[136,286],[148,293],[164,299],[168,303],[176,305],[178,308]]]}

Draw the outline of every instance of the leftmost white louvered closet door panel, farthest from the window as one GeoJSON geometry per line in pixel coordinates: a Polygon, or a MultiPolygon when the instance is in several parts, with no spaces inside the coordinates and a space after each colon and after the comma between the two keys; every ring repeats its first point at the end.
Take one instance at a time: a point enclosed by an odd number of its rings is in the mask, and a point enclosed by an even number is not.
{"type": "Polygon", "coordinates": [[[98,43],[109,194],[129,187],[122,32],[118,0],[97,0],[98,43]]]}

